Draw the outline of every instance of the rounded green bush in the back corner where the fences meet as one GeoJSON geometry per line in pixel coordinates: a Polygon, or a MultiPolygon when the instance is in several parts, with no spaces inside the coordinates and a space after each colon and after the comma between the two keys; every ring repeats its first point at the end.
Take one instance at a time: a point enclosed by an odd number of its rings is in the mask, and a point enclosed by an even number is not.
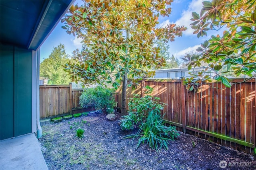
{"type": "Polygon", "coordinates": [[[116,106],[113,96],[114,89],[105,89],[102,87],[87,88],[80,96],[79,104],[81,107],[94,105],[96,109],[100,109],[103,113],[112,113],[116,106]]]}

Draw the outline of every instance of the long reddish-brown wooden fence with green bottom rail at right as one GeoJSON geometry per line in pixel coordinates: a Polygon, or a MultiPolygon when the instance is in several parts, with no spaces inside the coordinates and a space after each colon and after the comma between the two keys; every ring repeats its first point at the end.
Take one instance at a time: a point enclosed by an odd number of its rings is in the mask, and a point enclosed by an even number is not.
{"type": "MultiPolygon", "coordinates": [[[[198,92],[194,92],[186,90],[182,80],[148,79],[135,90],[128,88],[127,99],[133,94],[144,96],[143,87],[150,86],[154,88],[152,95],[167,104],[163,110],[164,120],[176,125],[178,130],[253,154],[255,79],[232,82],[236,84],[231,88],[225,88],[222,83],[201,83],[198,92]]],[[[116,93],[116,102],[121,107],[120,92],[116,93]]]]}

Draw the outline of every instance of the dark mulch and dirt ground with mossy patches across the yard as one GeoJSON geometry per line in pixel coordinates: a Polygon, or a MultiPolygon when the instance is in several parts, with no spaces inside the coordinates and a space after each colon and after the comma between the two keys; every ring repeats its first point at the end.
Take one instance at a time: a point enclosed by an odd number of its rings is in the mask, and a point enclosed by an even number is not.
{"type": "MultiPolygon", "coordinates": [[[[169,150],[157,153],[138,139],[122,139],[118,119],[109,121],[102,113],[51,123],[39,139],[50,170],[255,170],[253,156],[192,135],[170,141],[169,150]],[[76,129],[84,137],[76,137],[76,129]],[[226,162],[225,162],[226,161],[226,162]]],[[[136,129],[133,131],[136,133],[136,129]]]]}

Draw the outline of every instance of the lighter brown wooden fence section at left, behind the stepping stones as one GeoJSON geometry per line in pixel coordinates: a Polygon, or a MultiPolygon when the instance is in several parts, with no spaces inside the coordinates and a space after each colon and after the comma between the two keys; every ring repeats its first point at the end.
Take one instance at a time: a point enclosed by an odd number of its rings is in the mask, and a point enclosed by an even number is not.
{"type": "Polygon", "coordinates": [[[72,89],[69,85],[40,85],[40,118],[71,114],[79,108],[79,97],[83,89],[72,89]]]}

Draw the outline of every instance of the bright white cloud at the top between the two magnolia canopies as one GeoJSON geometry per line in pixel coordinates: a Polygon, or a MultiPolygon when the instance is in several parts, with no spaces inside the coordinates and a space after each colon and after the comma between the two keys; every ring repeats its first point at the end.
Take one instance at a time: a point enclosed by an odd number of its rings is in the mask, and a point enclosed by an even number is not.
{"type": "Polygon", "coordinates": [[[181,17],[177,21],[175,21],[176,25],[184,25],[188,28],[186,31],[183,32],[185,35],[193,34],[194,29],[190,27],[190,23],[192,23],[192,21],[190,20],[192,18],[192,12],[200,14],[203,6],[203,1],[204,0],[192,0],[188,6],[188,10],[183,11],[181,17]]]}

